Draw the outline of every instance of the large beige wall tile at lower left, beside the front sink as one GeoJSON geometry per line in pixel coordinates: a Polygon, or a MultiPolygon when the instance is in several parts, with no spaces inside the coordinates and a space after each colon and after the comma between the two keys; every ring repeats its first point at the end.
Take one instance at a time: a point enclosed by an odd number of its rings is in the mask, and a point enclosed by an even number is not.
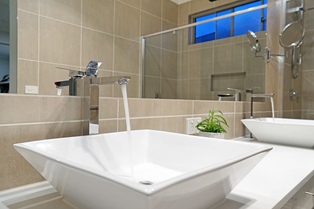
{"type": "Polygon", "coordinates": [[[44,178],[13,148],[13,144],[48,138],[81,135],[81,122],[38,123],[0,126],[3,162],[0,172],[0,191],[35,183],[44,178]]]}

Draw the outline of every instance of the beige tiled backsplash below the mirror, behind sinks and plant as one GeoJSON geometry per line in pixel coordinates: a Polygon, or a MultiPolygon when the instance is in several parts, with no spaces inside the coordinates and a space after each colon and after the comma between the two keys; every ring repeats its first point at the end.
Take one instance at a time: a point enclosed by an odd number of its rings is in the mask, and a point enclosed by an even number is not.
{"type": "MultiPolygon", "coordinates": [[[[0,191],[44,180],[13,148],[13,144],[82,134],[82,97],[0,94],[0,191]],[[21,105],[23,104],[23,105],[21,105]]],[[[185,133],[186,118],[206,117],[219,109],[229,125],[225,138],[248,134],[241,123],[249,102],[170,99],[128,99],[132,130],[152,129],[185,133]]],[[[269,117],[263,103],[255,103],[254,117],[269,117]]],[[[100,133],[126,131],[121,98],[100,98],[100,133]]]]}

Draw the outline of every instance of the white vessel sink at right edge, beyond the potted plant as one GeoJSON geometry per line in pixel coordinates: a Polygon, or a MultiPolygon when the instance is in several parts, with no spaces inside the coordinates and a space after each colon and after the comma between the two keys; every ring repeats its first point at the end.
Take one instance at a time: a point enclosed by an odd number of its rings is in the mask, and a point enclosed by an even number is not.
{"type": "Polygon", "coordinates": [[[252,118],[241,121],[258,141],[314,148],[314,120],[252,118]]]}

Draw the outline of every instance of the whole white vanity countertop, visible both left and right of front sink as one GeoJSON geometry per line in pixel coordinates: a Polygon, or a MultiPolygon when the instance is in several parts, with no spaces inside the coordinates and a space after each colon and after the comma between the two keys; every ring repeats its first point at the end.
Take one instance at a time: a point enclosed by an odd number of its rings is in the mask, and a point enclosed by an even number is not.
{"type": "MultiPolygon", "coordinates": [[[[314,149],[266,145],[272,146],[273,150],[231,191],[217,209],[279,209],[314,175],[314,149]]],[[[39,206],[44,206],[42,204],[45,203],[51,208],[54,208],[54,204],[57,208],[72,208],[61,201],[62,196],[47,181],[0,191],[0,208],[9,208],[6,207],[9,203],[18,203],[27,198],[35,200],[36,195],[41,196],[38,199],[41,202],[38,203],[39,206]],[[39,195],[40,191],[43,194],[39,195]],[[51,194],[54,196],[51,197],[51,194]],[[43,195],[46,200],[43,200],[43,195]],[[21,197],[19,201],[18,196],[21,197]]]]}

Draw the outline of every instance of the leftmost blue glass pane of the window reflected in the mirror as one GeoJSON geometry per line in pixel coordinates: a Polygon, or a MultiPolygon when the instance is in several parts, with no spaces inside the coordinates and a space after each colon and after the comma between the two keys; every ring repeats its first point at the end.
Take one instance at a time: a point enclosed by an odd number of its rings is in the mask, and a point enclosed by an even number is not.
{"type": "MultiPolygon", "coordinates": [[[[210,14],[195,19],[195,22],[214,18],[216,14],[210,14]]],[[[215,22],[204,23],[195,26],[195,43],[215,40],[215,22]]]]}

